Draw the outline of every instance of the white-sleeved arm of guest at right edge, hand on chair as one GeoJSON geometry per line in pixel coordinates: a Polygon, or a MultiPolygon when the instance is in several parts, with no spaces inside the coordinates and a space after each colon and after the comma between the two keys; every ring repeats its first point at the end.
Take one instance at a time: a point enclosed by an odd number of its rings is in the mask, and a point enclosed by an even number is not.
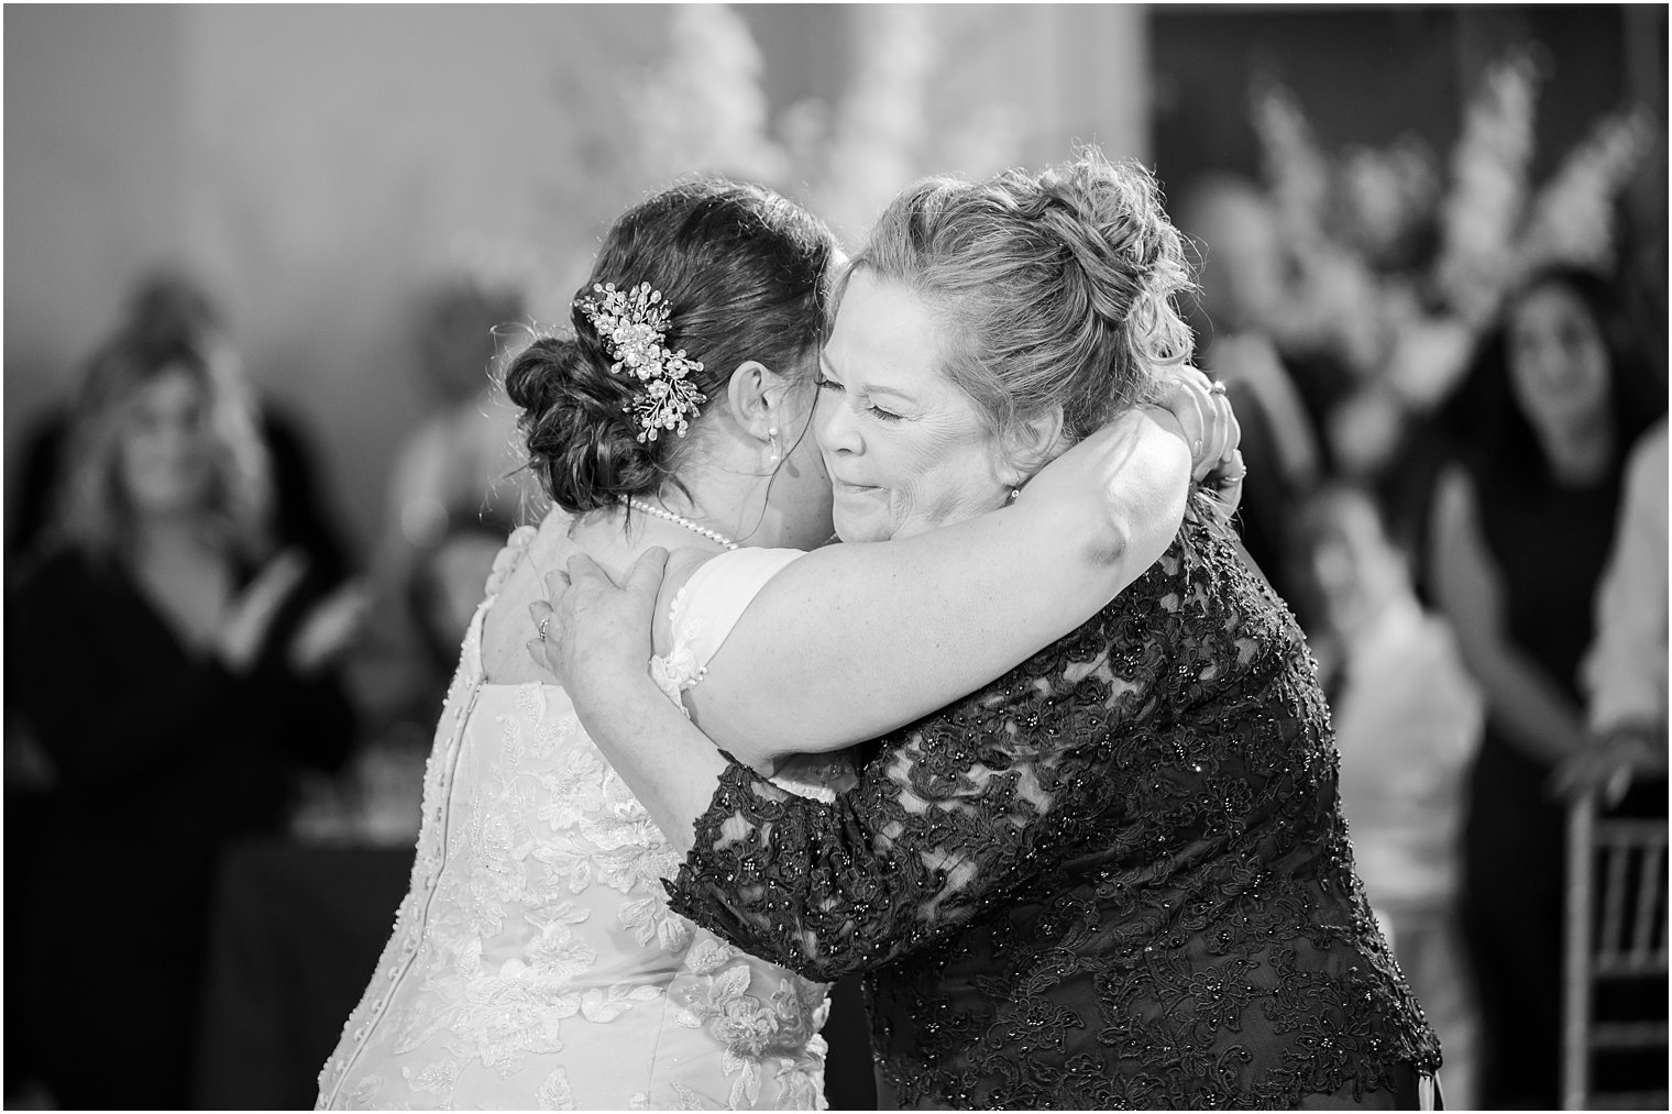
{"type": "Polygon", "coordinates": [[[1625,505],[1597,590],[1597,639],[1583,664],[1590,746],[1558,773],[1567,795],[1618,803],[1634,776],[1667,776],[1667,423],[1639,440],[1625,505]]]}

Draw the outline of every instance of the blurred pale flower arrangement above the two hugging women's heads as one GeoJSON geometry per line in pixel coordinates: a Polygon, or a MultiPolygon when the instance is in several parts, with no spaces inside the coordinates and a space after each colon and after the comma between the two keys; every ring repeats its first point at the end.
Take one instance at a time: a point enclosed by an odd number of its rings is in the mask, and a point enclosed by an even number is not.
{"type": "MultiPolygon", "coordinates": [[[[538,246],[461,238],[451,266],[477,283],[513,284],[537,316],[567,313],[604,226],[634,199],[696,174],[771,186],[853,244],[921,174],[1020,162],[1027,120],[1018,107],[936,97],[941,42],[958,20],[981,13],[854,5],[843,94],[791,104],[774,120],[766,60],[744,17],[724,3],[675,5],[665,47],[650,60],[617,65],[604,82],[587,67],[553,70],[567,134],[558,141],[563,174],[542,182],[550,234],[538,246]]],[[[515,348],[527,338],[510,340],[515,348]]]]}

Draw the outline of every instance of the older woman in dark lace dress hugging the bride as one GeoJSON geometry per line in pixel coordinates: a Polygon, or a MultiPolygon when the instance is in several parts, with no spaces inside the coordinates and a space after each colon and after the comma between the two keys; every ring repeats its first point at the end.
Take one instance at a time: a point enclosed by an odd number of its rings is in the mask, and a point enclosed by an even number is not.
{"type": "MultiPolygon", "coordinates": [[[[1182,353],[1182,283],[1152,182],[1095,152],[903,194],[853,261],[824,353],[816,432],[841,535],[888,549],[1002,505],[1012,475],[1182,353]]],[[[831,801],[751,768],[818,739],[726,698],[781,703],[749,614],[687,694],[724,754],[644,679],[642,632],[622,639],[650,617],[654,565],[627,594],[585,562],[570,575],[555,619],[533,607],[552,639],[533,649],[691,848],[674,908],[809,979],[864,972],[881,1082],[903,1106],[1433,1099],[1438,1044],[1353,875],[1313,661],[1197,507],[1114,604],[886,734],[831,801]]],[[[848,709],[913,687],[826,686],[848,709]]]]}

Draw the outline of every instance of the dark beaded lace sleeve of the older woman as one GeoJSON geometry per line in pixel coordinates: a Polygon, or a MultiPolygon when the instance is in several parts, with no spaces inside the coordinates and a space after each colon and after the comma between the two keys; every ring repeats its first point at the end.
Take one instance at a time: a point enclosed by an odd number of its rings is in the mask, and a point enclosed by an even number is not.
{"type": "MultiPolygon", "coordinates": [[[[1164,559],[1174,562],[1177,555],[1164,559]]],[[[986,689],[883,739],[833,803],[732,763],[672,907],[809,979],[886,963],[1027,887],[1115,800],[1110,749],[1154,706],[1164,579],[986,689]]],[[[1170,619],[1169,619],[1170,617],[1170,619]]],[[[1160,631],[1167,641],[1169,631],[1160,631]]]]}

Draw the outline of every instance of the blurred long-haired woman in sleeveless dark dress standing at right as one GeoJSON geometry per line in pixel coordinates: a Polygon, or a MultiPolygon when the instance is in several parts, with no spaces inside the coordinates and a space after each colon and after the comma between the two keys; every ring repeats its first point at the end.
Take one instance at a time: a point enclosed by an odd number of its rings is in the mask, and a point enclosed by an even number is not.
{"type": "Polygon", "coordinates": [[[1461,396],[1473,425],[1431,505],[1435,597],[1486,699],[1463,878],[1486,1107],[1558,1102],[1563,811],[1548,783],[1587,736],[1580,657],[1625,453],[1665,410],[1620,308],[1573,269],[1505,301],[1461,396]]]}

